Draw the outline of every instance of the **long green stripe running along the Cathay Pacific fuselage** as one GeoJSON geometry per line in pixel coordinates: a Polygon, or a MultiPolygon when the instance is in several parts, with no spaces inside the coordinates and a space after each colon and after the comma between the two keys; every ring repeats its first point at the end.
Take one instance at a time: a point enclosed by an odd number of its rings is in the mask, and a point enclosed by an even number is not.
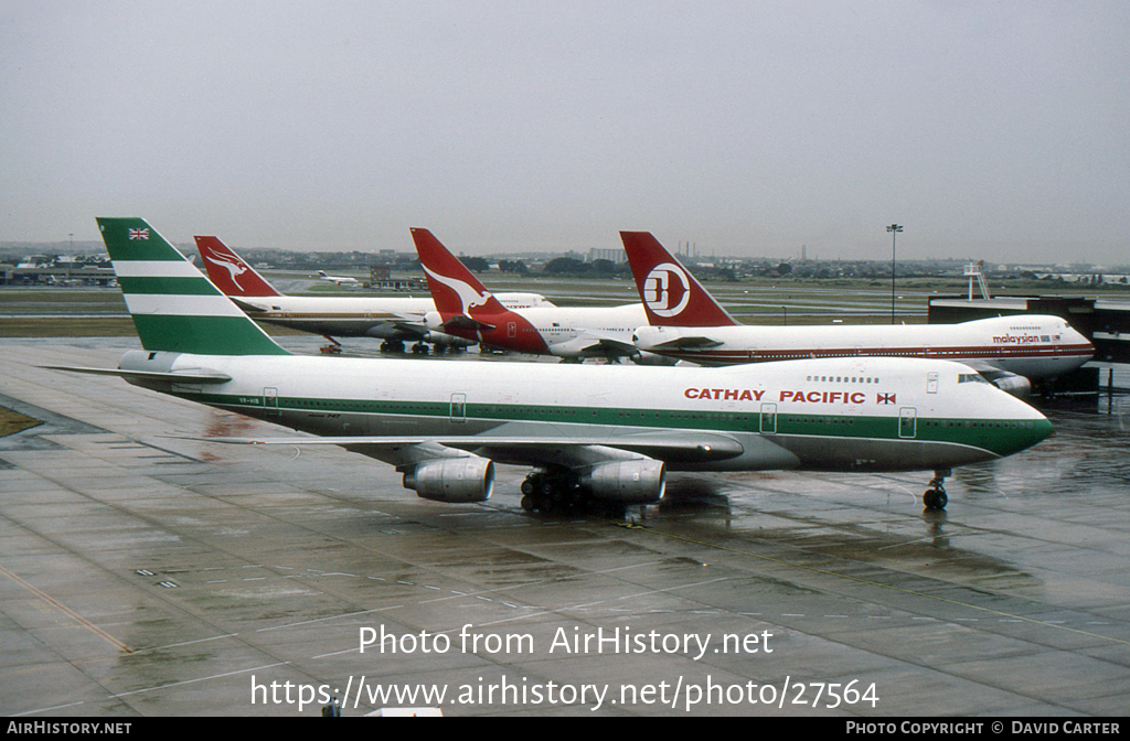
{"type": "MultiPolygon", "coordinates": [[[[221,407],[261,409],[262,396],[232,394],[182,394],[186,399],[221,407]]],[[[372,401],[367,399],[316,399],[279,396],[278,410],[332,413],[375,413],[414,417],[451,415],[450,402],[436,401],[372,401]]],[[[275,407],[271,407],[273,412],[275,407]]],[[[651,427],[654,429],[701,429],[704,433],[758,433],[758,412],[687,412],[655,409],[609,409],[603,407],[547,407],[529,404],[473,404],[466,406],[467,419],[499,421],[539,421],[585,425],[619,425],[651,427]]],[[[1016,422],[1012,420],[932,419],[919,418],[913,438],[928,443],[951,443],[1007,455],[1019,447],[1040,442],[1049,426],[1046,421],[1016,422]],[[1014,426],[1015,425],[1015,426],[1014,426]]],[[[777,415],[776,435],[806,435],[814,437],[901,439],[898,417],[846,417],[831,415],[777,415]]]]}

